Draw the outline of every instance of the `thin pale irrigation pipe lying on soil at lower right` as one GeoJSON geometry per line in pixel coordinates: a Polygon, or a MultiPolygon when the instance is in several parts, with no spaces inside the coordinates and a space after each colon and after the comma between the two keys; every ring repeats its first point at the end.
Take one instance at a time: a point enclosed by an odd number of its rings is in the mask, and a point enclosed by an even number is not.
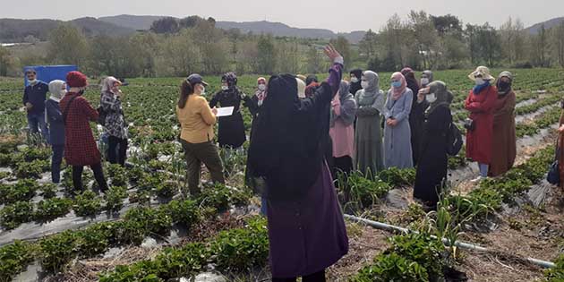
{"type": "MultiPolygon", "coordinates": [[[[390,232],[400,232],[400,233],[416,233],[415,231],[409,230],[407,228],[404,227],[400,227],[400,226],[392,226],[389,224],[385,224],[385,223],[381,223],[381,222],[377,222],[377,221],[373,221],[373,220],[369,220],[366,218],[358,218],[355,216],[351,216],[351,215],[344,215],[344,217],[346,219],[355,221],[355,222],[361,222],[363,224],[366,224],[368,226],[372,226],[374,228],[380,229],[380,230],[386,230],[386,231],[390,231],[390,232]]],[[[433,239],[436,239],[437,236],[432,235],[433,239]]],[[[441,238],[441,241],[443,244],[449,244],[449,240],[447,238],[441,238]]],[[[464,242],[460,242],[457,241],[455,242],[455,245],[458,248],[461,249],[466,249],[466,250],[474,250],[474,251],[478,251],[478,252],[493,252],[491,250],[488,250],[482,246],[479,246],[477,244],[467,244],[464,242]]],[[[526,261],[529,261],[535,265],[538,265],[540,267],[543,267],[545,269],[551,269],[556,267],[556,265],[551,262],[551,261],[541,261],[541,260],[537,260],[537,259],[533,259],[533,258],[526,258],[526,261]]]]}

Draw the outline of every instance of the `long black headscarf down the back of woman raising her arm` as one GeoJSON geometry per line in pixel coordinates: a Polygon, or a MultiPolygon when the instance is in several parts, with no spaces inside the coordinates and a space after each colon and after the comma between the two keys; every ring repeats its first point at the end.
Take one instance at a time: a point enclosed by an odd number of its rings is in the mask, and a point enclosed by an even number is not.
{"type": "MultiPolygon", "coordinates": [[[[321,88],[328,87],[321,84],[321,88]]],[[[268,89],[252,129],[249,165],[255,177],[266,181],[263,196],[291,200],[306,193],[319,176],[322,129],[316,125],[321,111],[306,109],[309,99],[297,97],[294,75],[270,77],[268,89]]]]}

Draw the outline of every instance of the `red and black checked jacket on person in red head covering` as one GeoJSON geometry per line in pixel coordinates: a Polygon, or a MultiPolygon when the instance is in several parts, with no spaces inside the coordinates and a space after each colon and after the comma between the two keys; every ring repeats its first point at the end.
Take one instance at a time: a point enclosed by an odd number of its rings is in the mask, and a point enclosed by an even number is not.
{"type": "MultiPolygon", "coordinates": [[[[71,98],[76,93],[67,93],[61,100],[64,113],[71,98]]],[[[64,124],[64,159],[71,166],[91,166],[101,161],[100,151],[90,129],[90,121],[98,120],[98,111],[81,96],[75,98],[67,110],[64,124]]]]}

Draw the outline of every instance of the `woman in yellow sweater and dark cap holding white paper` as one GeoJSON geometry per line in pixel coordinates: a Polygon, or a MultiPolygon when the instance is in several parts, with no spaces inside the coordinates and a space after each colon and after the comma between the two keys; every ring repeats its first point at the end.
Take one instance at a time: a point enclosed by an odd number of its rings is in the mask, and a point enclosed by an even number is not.
{"type": "Polygon", "coordinates": [[[188,189],[192,196],[201,192],[202,162],[208,167],[214,183],[225,183],[221,158],[213,142],[213,125],[218,120],[218,111],[215,107],[209,108],[206,98],[201,97],[206,86],[208,83],[200,74],[191,74],[182,82],[176,106],[176,116],[182,127],[180,142],[188,165],[188,189]]]}

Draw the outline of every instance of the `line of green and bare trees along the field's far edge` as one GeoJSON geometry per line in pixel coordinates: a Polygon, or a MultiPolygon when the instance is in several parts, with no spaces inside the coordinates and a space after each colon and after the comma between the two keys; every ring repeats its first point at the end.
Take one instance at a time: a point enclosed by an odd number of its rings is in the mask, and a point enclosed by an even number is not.
{"type": "MultiPolygon", "coordinates": [[[[132,36],[86,37],[70,23],[52,30],[47,47],[29,53],[0,47],[0,76],[19,73],[26,64],[78,64],[92,75],[119,77],[185,76],[188,73],[321,73],[322,46],[315,38],[287,38],[216,28],[213,18],[164,18],[132,36]]],[[[564,22],[537,34],[509,18],[496,29],[489,23],[464,25],[456,16],[412,11],[397,14],[378,31],[368,30],[358,44],[331,39],[347,67],[377,72],[469,68],[564,67],[564,22]]]]}

